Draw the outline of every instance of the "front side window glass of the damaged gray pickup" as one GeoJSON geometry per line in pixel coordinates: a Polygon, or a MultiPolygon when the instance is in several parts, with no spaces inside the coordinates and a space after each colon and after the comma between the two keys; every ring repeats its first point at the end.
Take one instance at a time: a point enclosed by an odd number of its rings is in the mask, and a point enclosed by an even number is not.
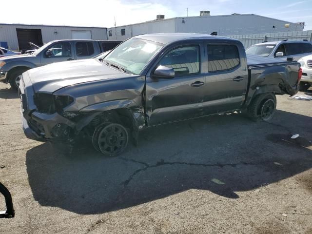
{"type": "Polygon", "coordinates": [[[199,72],[199,46],[183,46],[168,52],[159,65],[175,70],[176,76],[191,75],[199,72]]]}

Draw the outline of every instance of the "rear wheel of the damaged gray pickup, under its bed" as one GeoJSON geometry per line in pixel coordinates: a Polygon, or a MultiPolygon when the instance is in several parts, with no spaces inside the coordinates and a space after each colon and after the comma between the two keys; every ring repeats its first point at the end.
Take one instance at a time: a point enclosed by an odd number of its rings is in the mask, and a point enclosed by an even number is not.
{"type": "Polygon", "coordinates": [[[272,119],[276,108],[276,97],[274,94],[259,94],[248,107],[248,116],[258,121],[269,121],[272,119]]]}

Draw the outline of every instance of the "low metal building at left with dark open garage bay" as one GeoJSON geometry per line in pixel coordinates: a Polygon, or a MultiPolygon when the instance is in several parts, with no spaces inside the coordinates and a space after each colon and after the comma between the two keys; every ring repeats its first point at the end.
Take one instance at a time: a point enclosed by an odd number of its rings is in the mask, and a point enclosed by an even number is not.
{"type": "Polygon", "coordinates": [[[107,28],[0,23],[0,46],[20,51],[28,41],[43,45],[57,39],[107,39],[107,28]]]}

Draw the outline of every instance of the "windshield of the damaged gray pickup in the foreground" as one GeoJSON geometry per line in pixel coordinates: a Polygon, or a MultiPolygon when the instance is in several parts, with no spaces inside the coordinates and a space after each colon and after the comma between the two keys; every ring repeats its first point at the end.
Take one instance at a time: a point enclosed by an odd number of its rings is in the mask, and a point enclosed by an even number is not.
{"type": "Polygon", "coordinates": [[[131,38],[118,45],[105,57],[105,61],[138,75],[162,46],[149,40],[131,38]]]}

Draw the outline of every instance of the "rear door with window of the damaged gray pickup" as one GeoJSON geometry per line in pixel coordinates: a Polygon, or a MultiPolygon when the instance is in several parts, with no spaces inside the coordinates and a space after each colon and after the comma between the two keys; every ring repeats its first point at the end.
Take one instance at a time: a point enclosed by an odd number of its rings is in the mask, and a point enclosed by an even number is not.
{"type": "Polygon", "coordinates": [[[236,43],[206,43],[203,114],[211,115],[239,109],[247,89],[245,53],[236,43]]]}

